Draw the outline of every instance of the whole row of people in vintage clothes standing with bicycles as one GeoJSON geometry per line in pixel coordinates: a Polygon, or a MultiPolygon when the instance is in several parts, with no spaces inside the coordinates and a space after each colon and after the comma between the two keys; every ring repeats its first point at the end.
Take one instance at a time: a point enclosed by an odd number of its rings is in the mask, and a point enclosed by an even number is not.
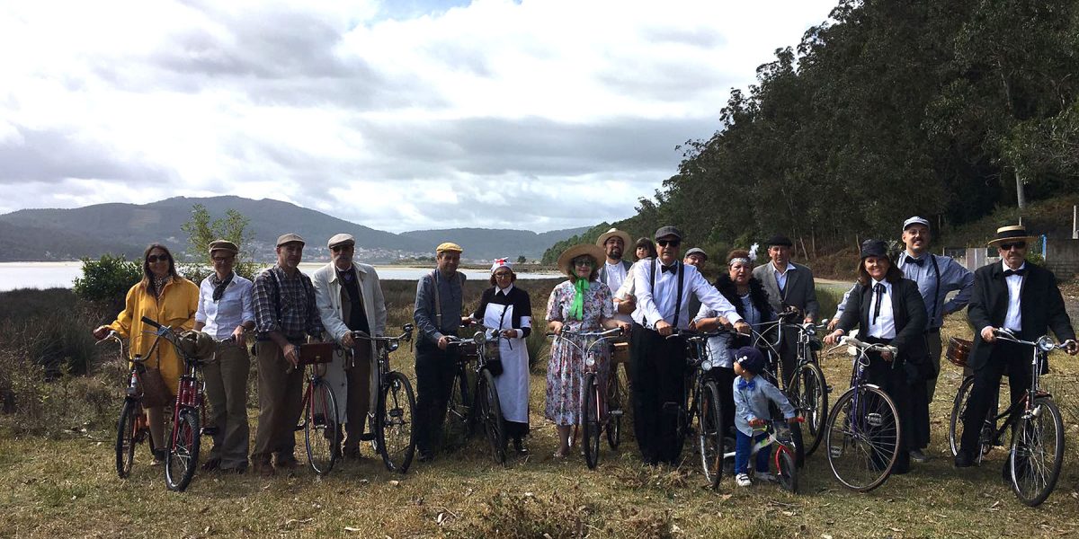
{"type": "MultiPolygon", "coordinates": [[[[1067,343],[1066,351],[1079,353],[1070,319],[1052,273],[1025,262],[1033,240],[1022,226],[1006,226],[989,241],[1001,262],[974,273],[953,259],[929,251],[930,223],[919,217],[902,225],[904,251],[894,261],[882,240],[861,246],[857,284],[839,306],[824,341],[836,343],[855,328],[863,341],[893,346],[894,357],[871,354],[869,382],[880,386],[896,402],[903,428],[903,446],[894,472],[910,470],[911,460],[929,459],[929,402],[940,371],[943,318],[964,307],[974,327],[970,368],[975,383],[964,430],[957,467],[970,466],[981,426],[979,417],[992,405],[1000,376],[1011,378],[1012,398],[1029,385],[1029,371],[1022,350],[995,343],[993,329],[1013,330],[1033,340],[1051,328],[1067,343]],[[951,292],[957,292],[948,299],[951,292]],[[981,412],[979,412],[981,411],[981,412]],[[968,436],[969,434],[969,436],[968,436]]],[[[651,465],[677,465],[682,451],[675,436],[677,413],[672,403],[684,395],[686,349],[677,330],[709,331],[726,327],[709,342],[711,375],[720,382],[725,425],[736,426],[735,472],[739,485],[751,484],[749,451],[752,426],[765,417],[766,402],[793,420],[794,410],[765,377],[764,357],[749,344],[751,329],[776,319],[777,313],[795,308],[803,322],[815,322],[819,304],[812,272],[791,262],[793,243],[781,235],[768,240],[768,261],[754,267],[751,253],[735,249],[726,257],[726,273],[714,284],[698,266],[708,254],[698,248],[680,257],[683,236],[674,226],[663,226],[653,238],[632,243],[636,262],[626,260],[631,237],[616,229],[595,244],[568,248],[558,259],[566,280],[551,291],[545,309],[546,329],[559,335],[551,345],[546,375],[544,416],[555,424],[559,447],[555,457],[573,451],[573,428],[581,421],[584,361],[581,346],[570,340],[581,332],[622,328],[628,335],[628,374],[632,382],[633,429],[642,459],[651,465]],[[563,335],[563,332],[565,334],[563,335]]],[[[209,245],[214,273],[201,285],[176,273],[175,261],[162,245],[150,246],[144,255],[142,280],[127,293],[124,310],[109,326],[94,331],[98,338],[113,330],[131,338],[134,355],[146,354],[150,338],[144,332],[144,316],[174,329],[209,333],[223,344],[204,375],[217,427],[206,469],[244,472],[248,468],[249,426],[246,386],[249,357],[245,334],[256,336],[259,419],[252,469],[263,475],[297,467],[293,430],[300,418],[302,369],[296,369],[299,346],[308,341],[332,341],[340,345],[326,378],[338,402],[345,403],[339,423],[345,427],[342,455],[360,456],[359,442],[373,409],[377,349],[354,338],[354,332],[382,335],[386,307],[375,270],[353,260],[355,240],[347,234],[329,238],[332,260],[312,277],[299,271],[304,240],[297,234],[277,239],[277,262],[249,281],[233,271],[238,247],[218,240],[209,245]]],[[[478,307],[465,313],[465,275],[457,271],[463,249],[453,243],[436,248],[437,266],[416,284],[413,318],[419,332],[415,346],[416,413],[415,441],[421,461],[435,458],[456,369],[459,350],[453,338],[463,326],[481,323],[500,337],[502,372],[495,377],[507,437],[518,453],[528,453],[529,357],[524,340],[532,332],[532,306],[528,292],[516,286],[517,275],[505,259],[490,272],[490,288],[478,307]]],[[[777,376],[789,382],[796,360],[794,332],[778,343],[777,376]]],[[[155,348],[148,358],[160,369],[175,391],[180,362],[170,347],[155,348]]],[[[612,365],[603,350],[600,375],[612,365]]],[[[778,385],[778,381],[777,381],[778,385]]],[[[154,447],[163,447],[161,407],[148,410],[154,447]]],[[[756,434],[759,436],[759,434],[756,434]]],[[[162,459],[163,454],[155,454],[162,459]]],[[[767,461],[754,467],[757,480],[768,476],[767,461]]]]}

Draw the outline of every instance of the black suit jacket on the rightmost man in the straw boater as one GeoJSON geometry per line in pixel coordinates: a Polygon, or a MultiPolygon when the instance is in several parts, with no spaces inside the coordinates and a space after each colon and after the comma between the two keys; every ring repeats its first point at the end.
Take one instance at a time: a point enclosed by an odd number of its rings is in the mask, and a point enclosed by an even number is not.
{"type": "MultiPolygon", "coordinates": [[[[1019,337],[1035,341],[1052,329],[1056,340],[1064,342],[1075,338],[1071,319],[1064,308],[1064,298],[1056,286],[1053,272],[1026,263],[1026,275],[1020,289],[1020,314],[1023,327],[1019,337]]],[[[999,328],[1008,314],[1008,285],[1005,282],[1003,265],[1000,262],[979,267],[974,272],[974,292],[967,307],[967,319],[974,329],[974,349],[971,351],[970,367],[978,370],[989,361],[993,345],[982,342],[982,328],[999,328]]]]}

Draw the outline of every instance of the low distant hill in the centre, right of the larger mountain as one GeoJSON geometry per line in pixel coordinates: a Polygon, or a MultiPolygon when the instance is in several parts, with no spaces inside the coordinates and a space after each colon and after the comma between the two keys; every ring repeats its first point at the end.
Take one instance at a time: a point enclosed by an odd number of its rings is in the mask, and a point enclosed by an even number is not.
{"type": "Polygon", "coordinates": [[[521,255],[529,260],[540,259],[556,241],[587,230],[586,226],[535,233],[493,229],[445,229],[405,232],[401,235],[423,241],[428,249],[442,241],[454,241],[465,249],[464,254],[470,260],[494,260],[505,257],[516,261],[521,255]]]}

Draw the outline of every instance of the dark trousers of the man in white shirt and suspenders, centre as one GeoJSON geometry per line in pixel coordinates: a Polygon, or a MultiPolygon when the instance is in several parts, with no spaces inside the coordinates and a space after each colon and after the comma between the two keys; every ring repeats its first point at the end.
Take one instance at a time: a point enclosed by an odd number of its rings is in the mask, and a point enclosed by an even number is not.
{"type": "Polygon", "coordinates": [[[677,429],[685,398],[685,342],[638,324],[631,335],[633,432],[641,457],[651,465],[675,465],[682,452],[677,429]]]}

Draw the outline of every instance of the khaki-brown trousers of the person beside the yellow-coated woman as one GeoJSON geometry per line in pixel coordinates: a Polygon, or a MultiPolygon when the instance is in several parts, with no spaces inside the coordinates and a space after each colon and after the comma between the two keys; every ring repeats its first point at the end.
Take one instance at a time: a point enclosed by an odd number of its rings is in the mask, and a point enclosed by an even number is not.
{"type": "Polygon", "coordinates": [[[214,361],[203,367],[206,397],[211,409],[210,425],[217,427],[209,458],[221,459],[221,468],[247,466],[250,427],[247,424],[247,347],[221,344],[214,361]]]}

